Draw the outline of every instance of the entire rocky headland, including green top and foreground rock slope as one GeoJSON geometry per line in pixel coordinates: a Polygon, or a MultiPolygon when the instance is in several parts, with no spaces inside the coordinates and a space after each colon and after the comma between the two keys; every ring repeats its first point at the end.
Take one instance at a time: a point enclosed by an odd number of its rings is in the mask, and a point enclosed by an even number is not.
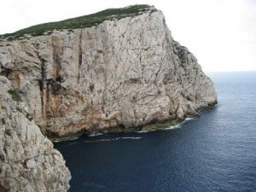
{"type": "Polygon", "coordinates": [[[5,189],[68,189],[70,173],[44,135],[160,129],[217,103],[195,56],[148,5],[2,35],[0,75],[5,189]]]}

